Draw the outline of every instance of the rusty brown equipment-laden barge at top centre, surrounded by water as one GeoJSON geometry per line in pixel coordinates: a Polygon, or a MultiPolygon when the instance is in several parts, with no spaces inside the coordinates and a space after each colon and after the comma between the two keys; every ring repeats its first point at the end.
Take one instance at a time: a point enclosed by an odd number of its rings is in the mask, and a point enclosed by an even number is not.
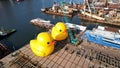
{"type": "Polygon", "coordinates": [[[68,3],[58,4],[54,2],[52,7],[42,8],[41,11],[46,14],[51,14],[51,15],[56,15],[56,16],[67,16],[71,18],[74,15],[76,15],[78,9],[80,9],[80,5],[75,7],[68,3]]]}

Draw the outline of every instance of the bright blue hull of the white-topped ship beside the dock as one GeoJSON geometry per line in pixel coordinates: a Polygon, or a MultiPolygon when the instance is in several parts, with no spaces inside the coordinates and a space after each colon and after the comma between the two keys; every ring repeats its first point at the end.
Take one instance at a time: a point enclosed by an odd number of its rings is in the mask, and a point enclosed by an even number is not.
{"type": "Polygon", "coordinates": [[[114,41],[105,41],[102,36],[91,34],[89,30],[84,33],[82,38],[87,39],[89,42],[94,42],[103,46],[120,49],[120,44],[114,43],[114,41]]]}

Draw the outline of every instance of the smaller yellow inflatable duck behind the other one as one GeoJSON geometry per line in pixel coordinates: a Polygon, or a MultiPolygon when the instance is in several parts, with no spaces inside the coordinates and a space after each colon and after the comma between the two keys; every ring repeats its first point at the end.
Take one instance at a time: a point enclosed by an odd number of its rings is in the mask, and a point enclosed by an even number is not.
{"type": "Polygon", "coordinates": [[[52,28],[52,37],[54,40],[60,41],[65,40],[68,37],[67,27],[65,23],[58,22],[53,28],[52,28]]]}

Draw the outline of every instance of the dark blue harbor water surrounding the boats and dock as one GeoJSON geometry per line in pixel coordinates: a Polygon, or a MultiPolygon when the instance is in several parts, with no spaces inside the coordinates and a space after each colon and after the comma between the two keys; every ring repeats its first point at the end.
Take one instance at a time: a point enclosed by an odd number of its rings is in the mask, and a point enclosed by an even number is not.
{"type": "MultiPolygon", "coordinates": [[[[52,6],[54,1],[55,0],[24,0],[22,2],[17,2],[16,0],[0,0],[0,27],[4,28],[4,30],[17,30],[17,32],[0,42],[7,45],[11,51],[14,51],[23,47],[25,44],[28,44],[38,33],[45,31],[44,29],[31,25],[31,19],[42,18],[50,20],[52,24],[64,21],[63,17],[44,14],[40,11],[41,8],[52,6]]],[[[75,0],[74,2],[83,3],[82,0],[75,0]]],[[[70,19],[70,22],[88,26],[88,29],[91,29],[96,25],[102,25],[82,21],[77,16],[70,19]]]]}

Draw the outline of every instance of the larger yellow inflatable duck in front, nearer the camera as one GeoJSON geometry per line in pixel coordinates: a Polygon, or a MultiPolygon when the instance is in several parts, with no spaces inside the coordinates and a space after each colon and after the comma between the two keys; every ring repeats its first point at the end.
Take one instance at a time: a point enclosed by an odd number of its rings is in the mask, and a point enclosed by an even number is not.
{"type": "Polygon", "coordinates": [[[54,41],[48,32],[42,32],[37,39],[30,41],[30,47],[37,56],[44,57],[53,52],[54,41]]]}

